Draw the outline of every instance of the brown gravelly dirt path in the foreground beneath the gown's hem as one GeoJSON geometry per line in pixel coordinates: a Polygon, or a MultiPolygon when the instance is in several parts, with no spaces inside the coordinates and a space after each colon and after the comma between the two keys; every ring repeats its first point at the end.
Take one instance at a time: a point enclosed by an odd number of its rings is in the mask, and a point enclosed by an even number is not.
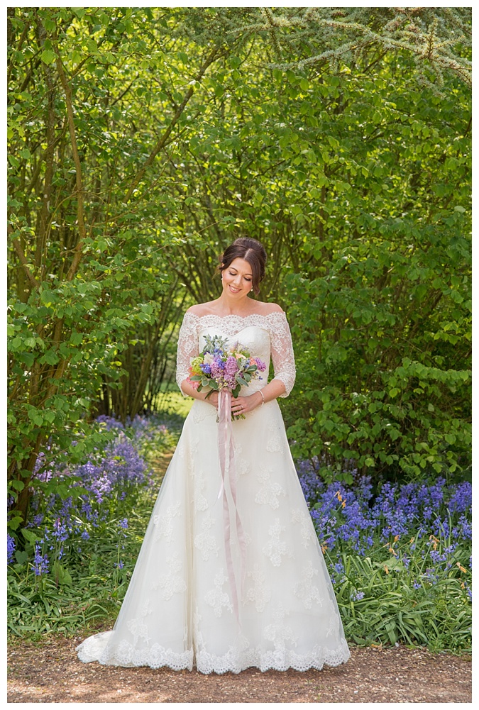
{"type": "Polygon", "coordinates": [[[239,674],[83,664],[81,638],[16,641],[9,649],[9,703],[470,703],[470,657],[407,648],[352,648],[322,671],[249,669],[239,674]]]}

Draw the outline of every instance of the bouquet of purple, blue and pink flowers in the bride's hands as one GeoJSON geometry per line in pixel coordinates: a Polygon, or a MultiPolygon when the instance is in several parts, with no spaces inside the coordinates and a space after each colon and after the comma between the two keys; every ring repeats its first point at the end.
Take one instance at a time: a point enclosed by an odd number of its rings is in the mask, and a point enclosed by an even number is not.
{"type": "MultiPolygon", "coordinates": [[[[242,385],[248,386],[252,380],[262,377],[260,372],[266,365],[257,357],[250,356],[238,343],[227,348],[227,339],[220,335],[205,336],[206,345],[198,357],[191,360],[188,382],[201,392],[203,387],[210,387],[208,398],[215,390],[229,390],[237,397],[242,385]]],[[[244,419],[244,414],[234,415],[233,419],[244,419]]]]}

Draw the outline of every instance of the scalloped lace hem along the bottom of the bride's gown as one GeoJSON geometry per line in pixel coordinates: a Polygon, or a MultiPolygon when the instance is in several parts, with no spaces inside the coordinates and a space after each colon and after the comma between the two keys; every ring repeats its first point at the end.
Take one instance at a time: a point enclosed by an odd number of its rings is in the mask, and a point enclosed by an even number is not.
{"type": "Polygon", "coordinates": [[[230,648],[223,656],[201,650],[197,652],[195,658],[193,648],[178,653],[156,643],[151,648],[138,650],[123,641],[110,650],[108,645],[105,645],[101,640],[90,637],[77,646],[77,653],[83,663],[97,661],[102,665],[122,667],[149,666],[155,670],[166,666],[172,670],[191,671],[195,667],[198,672],[203,674],[240,673],[251,667],[259,668],[262,672],[289,669],[304,672],[311,668],[321,670],[324,665],[338,666],[350,658],[350,650],[345,641],[337,650],[315,647],[308,654],[298,654],[291,650],[261,651],[230,648]]]}

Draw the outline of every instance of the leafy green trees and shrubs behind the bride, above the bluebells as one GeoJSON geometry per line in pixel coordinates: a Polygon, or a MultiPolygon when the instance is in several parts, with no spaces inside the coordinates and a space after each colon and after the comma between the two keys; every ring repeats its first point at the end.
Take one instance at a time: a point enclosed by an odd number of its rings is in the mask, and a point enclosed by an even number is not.
{"type": "Polygon", "coordinates": [[[98,415],[159,407],[238,236],[291,324],[295,459],[470,479],[470,28],[470,8],[8,9],[11,530],[70,495],[42,473],[102,445],[98,415]]]}

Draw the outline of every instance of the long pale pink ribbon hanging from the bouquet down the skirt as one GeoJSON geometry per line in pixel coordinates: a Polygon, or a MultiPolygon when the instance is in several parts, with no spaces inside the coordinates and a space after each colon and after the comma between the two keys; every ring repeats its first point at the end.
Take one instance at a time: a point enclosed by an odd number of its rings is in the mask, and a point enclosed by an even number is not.
{"type": "Polygon", "coordinates": [[[235,568],[231,554],[231,515],[230,504],[227,499],[226,482],[230,485],[233,515],[235,516],[236,534],[241,552],[241,592],[244,593],[244,580],[246,571],[246,540],[244,538],[243,527],[239,518],[236,503],[236,469],[235,469],[235,445],[232,439],[231,427],[231,392],[220,390],[218,392],[218,449],[220,454],[221,488],[218,498],[223,496],[223,523],[225,528],[225,552],[228,579],[230,580],[231,594],[235,616],[239,623],[238,593],[235,578],[235,568]]]}

